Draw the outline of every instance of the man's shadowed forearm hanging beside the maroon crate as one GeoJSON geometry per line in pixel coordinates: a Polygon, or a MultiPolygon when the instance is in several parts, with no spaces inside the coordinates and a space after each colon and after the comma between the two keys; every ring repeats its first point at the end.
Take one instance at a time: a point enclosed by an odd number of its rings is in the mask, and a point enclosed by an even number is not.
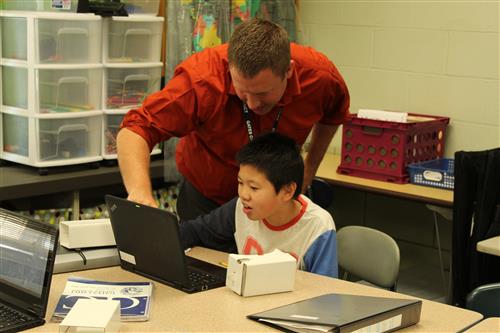
{"type": "Polygon", "coordinates": [[[311,185],[337,128],[338,126],[336,125],[323,125],[320,123],[314,125],[311,135],[311,145],[304,161],[302,193],[305,193],[307,187],[311,185]]]}

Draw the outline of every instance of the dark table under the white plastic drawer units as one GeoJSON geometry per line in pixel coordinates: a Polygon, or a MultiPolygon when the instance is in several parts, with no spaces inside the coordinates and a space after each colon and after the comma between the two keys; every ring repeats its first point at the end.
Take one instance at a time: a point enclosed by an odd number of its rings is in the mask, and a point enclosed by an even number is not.
{"type": "MultiPolygon", "coordinates": [[[[163,159],[151,161],[151,178],[163,177],[163,159]]],[[[37,168],[24,165],[0,167],[0,201],[68,192],[73,212],[80,211],[80,190],[121,184],[118,166],[60,172],[40,176],[37,168]]],[[[78,216],[74,216],[78,220],[78,216]]]]}

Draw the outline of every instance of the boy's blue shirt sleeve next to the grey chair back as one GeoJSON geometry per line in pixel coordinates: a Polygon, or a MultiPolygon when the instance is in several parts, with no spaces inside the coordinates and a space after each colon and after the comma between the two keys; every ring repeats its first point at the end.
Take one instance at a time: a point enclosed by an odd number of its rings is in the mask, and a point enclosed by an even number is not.
{"type": "Polygon", "coordinates": [[[329,230],[321,234],[304,255],[305,271],[338,277],[337,233],[329,230]]]}

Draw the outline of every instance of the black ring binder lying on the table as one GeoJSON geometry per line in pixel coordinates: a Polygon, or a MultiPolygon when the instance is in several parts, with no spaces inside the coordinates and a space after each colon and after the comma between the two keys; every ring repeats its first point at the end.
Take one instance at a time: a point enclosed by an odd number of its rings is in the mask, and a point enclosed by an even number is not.
{"type": "Polygon", "coordinates": [[[415,299],[326,294],[248,318],[285,332],[344,333],[369,329],[381,333],[418,323],[421,308],[422,301],[415,299]]]}

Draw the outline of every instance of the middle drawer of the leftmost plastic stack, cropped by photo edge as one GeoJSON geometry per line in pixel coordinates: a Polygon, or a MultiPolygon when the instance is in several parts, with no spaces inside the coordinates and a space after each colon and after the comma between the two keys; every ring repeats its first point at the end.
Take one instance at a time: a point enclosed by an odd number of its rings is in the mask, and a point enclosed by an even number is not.
{"type": "Polygon", "coordinates": [[[2,104],[20,109],[28,108],[28,69],[2,66],[2,104]]]}

